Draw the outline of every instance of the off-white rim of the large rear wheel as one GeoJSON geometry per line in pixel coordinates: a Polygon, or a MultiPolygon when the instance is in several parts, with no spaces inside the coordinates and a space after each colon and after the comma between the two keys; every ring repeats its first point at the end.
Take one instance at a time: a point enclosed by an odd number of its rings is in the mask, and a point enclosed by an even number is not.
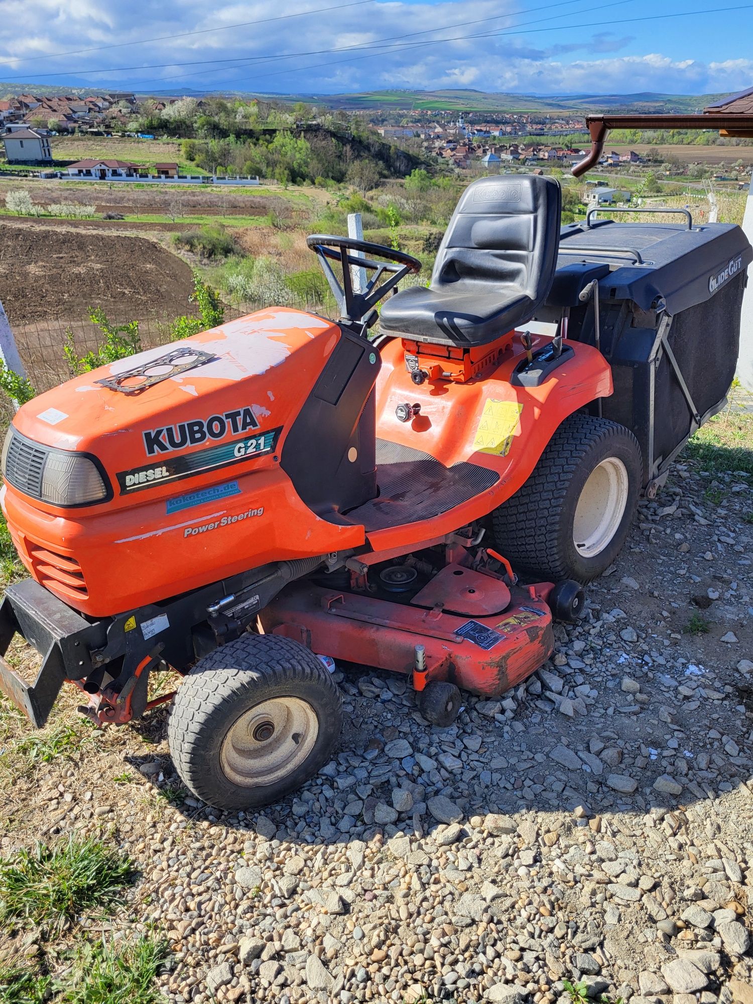
{"type": "Polygon", "coordinates": [[[581,557],[595,557],[608,546],[624,514],[628,490],[628,469],[616,457],[602,460],[588,475],[572,524],[572,539],[581,557]]]}

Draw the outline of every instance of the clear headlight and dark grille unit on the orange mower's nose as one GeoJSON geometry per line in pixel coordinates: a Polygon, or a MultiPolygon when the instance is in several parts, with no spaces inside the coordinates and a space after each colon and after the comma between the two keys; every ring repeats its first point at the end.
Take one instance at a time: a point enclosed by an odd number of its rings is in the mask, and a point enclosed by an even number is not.
{"type": "Polygon", "coordinates": [[[91,457],[34,443],[12,426],[5,437],[2,464],[9,484],[50,505],[90,505],[109,497],[102,472],[91,457]]]}

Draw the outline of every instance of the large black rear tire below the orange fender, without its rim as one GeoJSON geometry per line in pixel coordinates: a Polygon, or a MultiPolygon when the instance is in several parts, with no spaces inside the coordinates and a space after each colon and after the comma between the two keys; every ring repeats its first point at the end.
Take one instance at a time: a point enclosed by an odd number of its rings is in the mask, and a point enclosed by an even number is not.
{"type": "Polygon", "coordinates": [[[643,462],[633,433],[608,419],[570,415],[559,426],[522,488],[493,513],[497,547],[513,567],[557,582],[589,582],[616,558],[633,522],[643,462]],[[575,509],[590,474],[616,458],[628,473],[624,511],[611,538],[594,555],[579,553],[575,509]]]}

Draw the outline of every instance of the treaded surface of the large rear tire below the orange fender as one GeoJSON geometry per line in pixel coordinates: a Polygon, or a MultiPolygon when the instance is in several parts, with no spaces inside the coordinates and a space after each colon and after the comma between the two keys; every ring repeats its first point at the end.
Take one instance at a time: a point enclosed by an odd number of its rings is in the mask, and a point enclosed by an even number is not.
{"type": "Polygon", "coordinates": [[[525,484],[493,513],[494,536],[513,567],[554,581],[572,576],[551,517],[563,507],[569,481],[589,450],[625,434],[640,456],[638,440],[617,422],[578,412],[562,422],[525,484]]]}

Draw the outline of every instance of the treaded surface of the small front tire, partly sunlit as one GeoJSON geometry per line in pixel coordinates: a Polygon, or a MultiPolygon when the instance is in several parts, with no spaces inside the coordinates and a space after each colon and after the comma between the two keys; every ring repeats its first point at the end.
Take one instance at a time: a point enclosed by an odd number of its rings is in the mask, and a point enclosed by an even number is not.
{"type": "MultiPolygon", "coordinates": [[[[317,656],[303,645],[277,635],[243,635],[200,660],[187,674],[173,699],[168,718],[168,745],[184,784],[203,801],[217,804],[202,770],[207,729],[213,719],[226,718],[230,707],[246,694],[277,685],[316,684],[326,688],[327,700],[339,721],[341,698],[337,686],[317,656]],[[229,707],[230,706],[230,707],[229,707]]],[[[332,737],[330,749],[338,738],[332,737]]],[[[324,762],[324,761],[322,761],[324,762]]],[[[321,766],[317,764],[309,773],[321,766]]]]}

